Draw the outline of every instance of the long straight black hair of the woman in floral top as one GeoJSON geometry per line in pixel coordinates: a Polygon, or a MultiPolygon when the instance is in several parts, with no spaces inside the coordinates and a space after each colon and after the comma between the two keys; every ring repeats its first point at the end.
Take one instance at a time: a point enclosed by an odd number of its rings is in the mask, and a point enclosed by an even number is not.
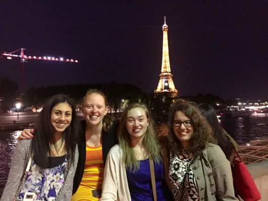
{"type": "Polygon", "coordinates": [[[47,153],[50,156],[50,147],[55,146],[54,144],[56,144],[50,118],[53,107],[60,103],[67,103],[72,108],[72,121],[63,131],[62,138],[65,141],[68,158],[71,159],[72,163],[74,162],[75,146],[78,136],[81,135],[81,125],[78,122],[73,99],[67,95],[57,94],[46,100],[35,125],[35,135],[32,139],[31,153],[34,162],[41,168],[49,166],[47,153]]]}

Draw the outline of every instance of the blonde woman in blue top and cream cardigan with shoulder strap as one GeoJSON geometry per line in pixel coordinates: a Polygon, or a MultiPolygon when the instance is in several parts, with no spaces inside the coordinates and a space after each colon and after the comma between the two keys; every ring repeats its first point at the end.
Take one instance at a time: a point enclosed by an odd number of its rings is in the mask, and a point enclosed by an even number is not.
{"type": "Polygon", "coordinates": [[[123,112],[118,139],[106,161],[100,200],[167,200],[160,146],[145,105],[134,103],[123,112]],[[155,176],[150,174],[150,163],[155,176]]]}

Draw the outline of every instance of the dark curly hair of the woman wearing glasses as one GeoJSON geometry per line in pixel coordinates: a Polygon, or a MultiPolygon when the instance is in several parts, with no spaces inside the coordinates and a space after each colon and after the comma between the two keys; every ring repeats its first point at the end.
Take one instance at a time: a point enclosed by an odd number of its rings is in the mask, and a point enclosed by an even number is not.
{"type": "Polygon", "coordinates": [[[208,142],[216,143],[213,138],[212,128],[200,113],[194,102],[178,99],[171,106],[169,112],[169,150],[172,156],[181,153],[182,144],[174,133],[173,121],[176,112],[183,112],[193,122],[193,134],[189,140],[189,151],[193,156],[199,155],[208,142]]]}

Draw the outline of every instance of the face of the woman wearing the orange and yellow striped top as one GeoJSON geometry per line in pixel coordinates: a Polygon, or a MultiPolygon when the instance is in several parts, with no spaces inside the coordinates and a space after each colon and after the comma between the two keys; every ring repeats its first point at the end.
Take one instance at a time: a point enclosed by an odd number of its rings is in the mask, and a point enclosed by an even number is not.
{"type": "Polygon", "coordinates": [[[84,100],[84,117],[87,124],[98,125],[102,122],[107,112],[105,100],[101,95],[92,93],[86,96],[84,100]]]}

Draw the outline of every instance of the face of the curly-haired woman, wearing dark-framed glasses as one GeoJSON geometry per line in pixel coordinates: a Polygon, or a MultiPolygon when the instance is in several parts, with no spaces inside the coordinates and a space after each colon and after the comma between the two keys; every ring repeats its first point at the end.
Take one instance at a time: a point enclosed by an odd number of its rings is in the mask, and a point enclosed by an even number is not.
{"type": "Polygon", "coordinates": [[[194,132],[193,126],[191,127],[186,127],[186,126],[190,126],[190,124],[192,125],[192,121],[189,117],[187,117],[184,112],[181,111],[177,111],[174,114],[174,122],[179,122],[179,124],[181,122],[185,122],[185,123],[181,123],[180,126],[173,126],[174,129],[174,133],[175,135],[178,137],[178,139],[181,141],[183,147],[188,147],[189,145],[189,139],[191,138],[191,135],[194,132]],[[189,122],[188,122],[189,121],[189,122]],[[185,126],[186,124],[186,126],[185,126]]]}

